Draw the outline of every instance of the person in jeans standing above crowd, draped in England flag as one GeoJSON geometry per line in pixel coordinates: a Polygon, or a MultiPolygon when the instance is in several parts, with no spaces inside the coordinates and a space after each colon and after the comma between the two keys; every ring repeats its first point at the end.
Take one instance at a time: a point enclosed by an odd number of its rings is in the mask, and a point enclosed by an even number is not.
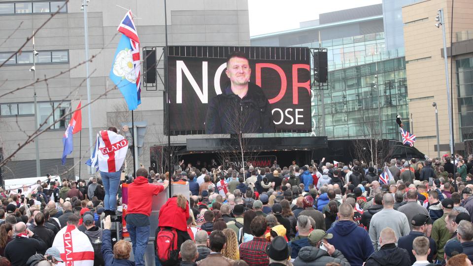
{"type": "Polygon", "coordinates": [[[92,156],[86,165],[98,167],[105,190],[103,207],[105,215],[115,215],[117,209],[117,192],[120,175],[124,168],[129,146],[133,146],[133,136],[128,126],[122,128],[125,136],[118,134],[116,127],[109,127],[97,134],[97,142],[92,156]]]}

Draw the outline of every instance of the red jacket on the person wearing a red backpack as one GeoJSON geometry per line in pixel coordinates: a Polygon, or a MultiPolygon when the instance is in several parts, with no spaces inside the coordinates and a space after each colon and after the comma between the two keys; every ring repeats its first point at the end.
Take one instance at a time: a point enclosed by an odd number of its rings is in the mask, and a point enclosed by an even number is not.
{"type": "Polygon", "coordinates": [[[159,227],[172,227],[180,231],[187,231],[189,218],[189,204],[183,210],[177,206],[177,197],[168,199],[159,210],[159,227]]]}

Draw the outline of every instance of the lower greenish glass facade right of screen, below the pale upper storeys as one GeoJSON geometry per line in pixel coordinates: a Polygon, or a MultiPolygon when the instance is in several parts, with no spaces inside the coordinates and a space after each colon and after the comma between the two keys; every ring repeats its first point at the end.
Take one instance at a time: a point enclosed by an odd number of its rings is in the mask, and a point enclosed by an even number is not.
{"type": "Polygon", "coordinates": [[[316,135],[323,134],[322,106],[329,138],[399,139],[397,114],[409,130],[404,57],[330,71],[328,84],[326,90],[313,91],[316,135]]]}

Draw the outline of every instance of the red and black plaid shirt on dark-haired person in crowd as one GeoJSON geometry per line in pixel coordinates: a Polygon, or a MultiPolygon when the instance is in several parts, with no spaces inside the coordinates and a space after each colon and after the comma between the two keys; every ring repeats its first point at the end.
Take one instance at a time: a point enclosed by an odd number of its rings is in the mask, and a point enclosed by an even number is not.
{"type": "Polygon", "coordinates": [[[264,238],[255,237],[253,240],[240,245],[240,260],[248,266],[268,266],[270,259],[266,255],[266,247],[270,242],[264,238]]]}

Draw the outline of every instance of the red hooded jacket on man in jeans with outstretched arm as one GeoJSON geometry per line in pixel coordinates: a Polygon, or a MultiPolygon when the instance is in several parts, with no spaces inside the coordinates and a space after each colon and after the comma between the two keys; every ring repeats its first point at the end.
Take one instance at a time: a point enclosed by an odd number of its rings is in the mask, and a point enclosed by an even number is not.
{"type": "Polygon", "coordinates": [[[148,178],[138,176],[133,183],[128,186],[128,213],[141,213],[146,216],[151,214],[151,203],[154,195],[158,195],[164,190],[164,186],[153,185],[148,182],[148,178]]]}

